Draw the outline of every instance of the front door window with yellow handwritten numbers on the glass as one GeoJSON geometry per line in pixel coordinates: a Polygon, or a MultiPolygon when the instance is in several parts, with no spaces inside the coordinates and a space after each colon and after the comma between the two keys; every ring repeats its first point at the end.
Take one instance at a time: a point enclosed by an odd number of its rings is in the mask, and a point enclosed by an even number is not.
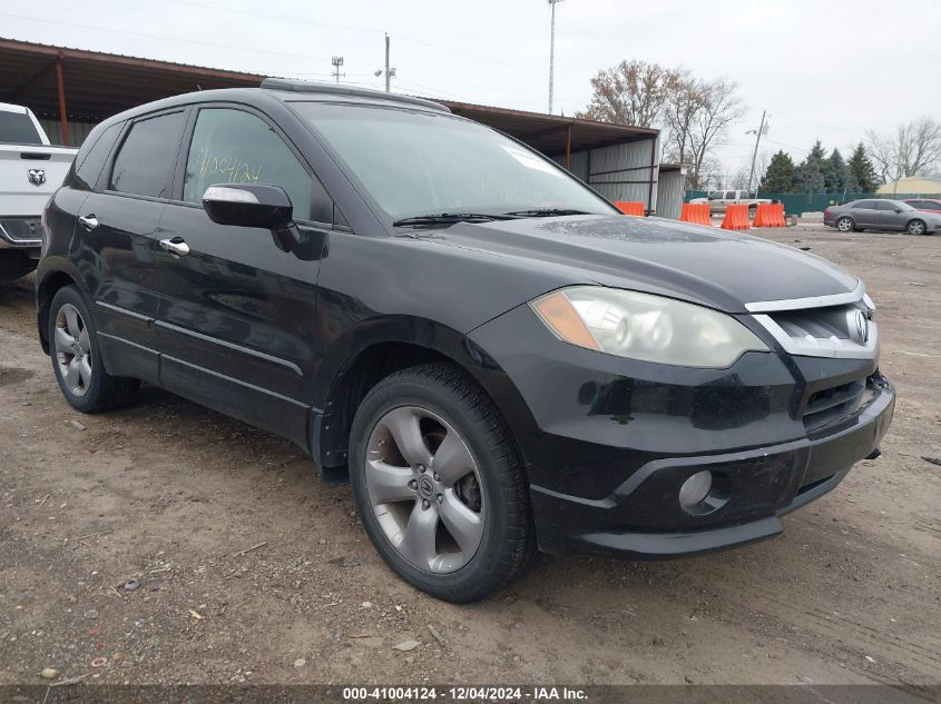
{"type": "Polygon", "coordinates": [[[199,204],[214,184],[280,186],[294,217],[331,224],[333,201],[320,181],[261,117],[234,108],[203,108],[193,129],[183,199],[199,204]]]}

